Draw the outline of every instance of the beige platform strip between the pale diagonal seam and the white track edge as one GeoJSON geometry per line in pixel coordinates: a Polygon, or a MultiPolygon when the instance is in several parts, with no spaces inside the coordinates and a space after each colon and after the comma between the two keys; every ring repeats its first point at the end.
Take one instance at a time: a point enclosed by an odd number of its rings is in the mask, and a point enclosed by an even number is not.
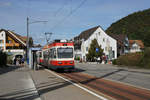
{"type": "Polygon", "coordinates": [[[30,71],[42,100],[100,100],[50,72],[44,69],[30,71]]]}

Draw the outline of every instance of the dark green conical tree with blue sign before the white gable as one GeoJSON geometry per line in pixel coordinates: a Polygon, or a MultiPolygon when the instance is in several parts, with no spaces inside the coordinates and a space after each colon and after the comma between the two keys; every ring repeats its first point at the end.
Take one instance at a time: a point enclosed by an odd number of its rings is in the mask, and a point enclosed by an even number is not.
{"type": "Polygon", "coordinates": [[[87,61],[94,61],[95,57],[101,57],[103,54],[103,49],[101,48],[101,46],[99,46],[98,42],[96,39],[92,40],[92,43],[90,44],[90,48],[88,50],[88,54],[87,56],[87,61]],[[96,51],[97,49],[97,51],[96,51]]]}

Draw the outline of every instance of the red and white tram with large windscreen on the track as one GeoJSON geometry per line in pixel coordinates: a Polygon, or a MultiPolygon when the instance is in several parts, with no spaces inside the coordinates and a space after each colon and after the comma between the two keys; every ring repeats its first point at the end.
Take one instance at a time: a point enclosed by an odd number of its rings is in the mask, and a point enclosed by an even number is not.
{"type": "Polygon", "coordinates": [[[74,44],[62,40],[54,41],[38,51],[37,62],[50,69],[74,69],[74,44]]]}

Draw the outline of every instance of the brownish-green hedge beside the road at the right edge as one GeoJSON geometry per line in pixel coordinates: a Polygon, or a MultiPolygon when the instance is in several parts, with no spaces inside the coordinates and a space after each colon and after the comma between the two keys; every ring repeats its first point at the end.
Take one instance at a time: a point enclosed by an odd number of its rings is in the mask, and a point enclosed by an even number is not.
{"type": "Polygon", "coordinates": [[[129,53],[121,55],[113,60],[114,65],[136,66],[140,68],[150,68],[150,48],[146,48],[144,52],[129,53]]]}

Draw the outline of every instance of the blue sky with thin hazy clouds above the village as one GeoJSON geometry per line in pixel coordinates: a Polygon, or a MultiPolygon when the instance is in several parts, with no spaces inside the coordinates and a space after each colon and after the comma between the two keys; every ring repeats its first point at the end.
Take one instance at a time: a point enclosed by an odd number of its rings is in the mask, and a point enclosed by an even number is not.
{"type": "Polygon", "coordinates": [[[29,17],[29,35],[35,44],[44,45],[45,32],[54,40],[71,39],[98,25],[106,30],[149,4],[150,0],[0,0],[0,29],[26,36],[29,17]]]}

